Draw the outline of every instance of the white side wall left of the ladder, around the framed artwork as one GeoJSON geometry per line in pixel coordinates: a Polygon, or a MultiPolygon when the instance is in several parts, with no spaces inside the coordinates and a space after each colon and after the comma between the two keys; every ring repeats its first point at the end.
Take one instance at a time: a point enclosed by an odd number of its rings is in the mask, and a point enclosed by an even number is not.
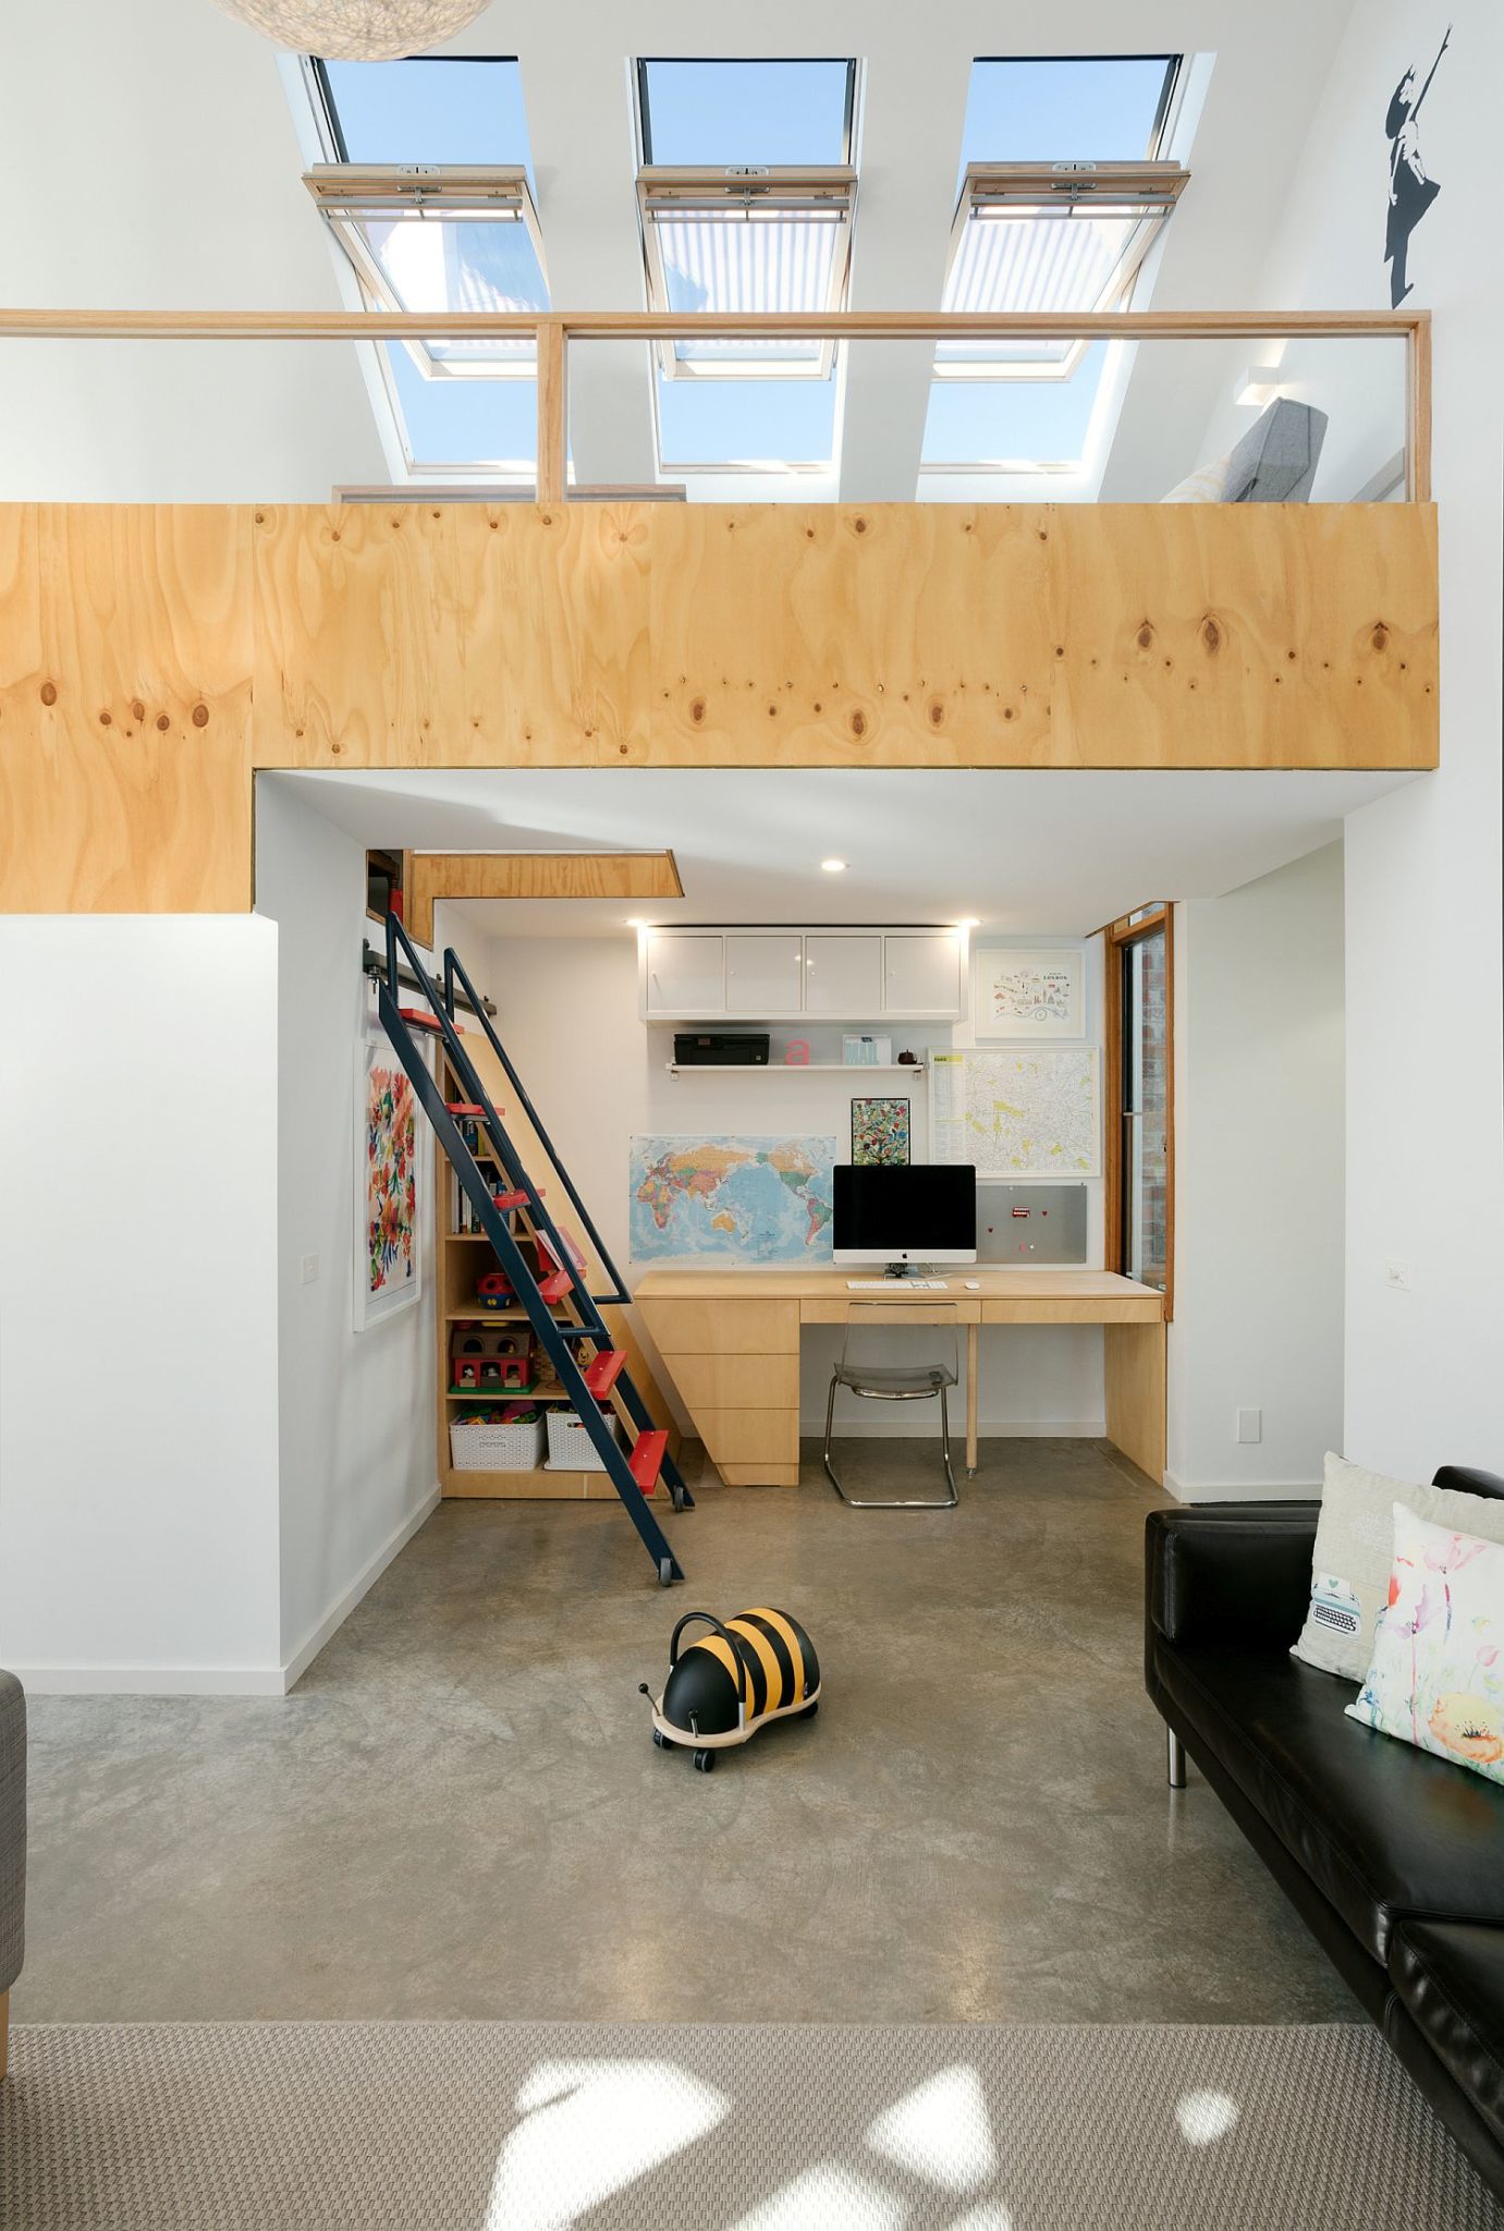
{"type": "MultiPolygon", "coordinates": [[[[420,1303],[353,1330],[359,948],[377,928],[361,846],[274,776],[257,783],[257,910],[279,930],[281,1658],[297,1678],[437,1501],[433,1265],[428,1249],[420,1303]]],[[[431,1176],[426,1127],[422,1142],[431,1176]]]]}

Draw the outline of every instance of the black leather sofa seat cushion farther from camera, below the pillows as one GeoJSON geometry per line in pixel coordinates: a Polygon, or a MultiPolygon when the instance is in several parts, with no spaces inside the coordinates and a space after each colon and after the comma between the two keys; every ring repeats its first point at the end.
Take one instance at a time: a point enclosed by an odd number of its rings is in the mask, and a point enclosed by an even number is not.
{"type": "Polygon", "coordinates": [[[1504,1789],[1346,1718],[1352,1691],[1270,1649],[1154,1658],[1207,1745],[1372,1959],[1401,1914],[1504,1925],[1504,1789]]]}

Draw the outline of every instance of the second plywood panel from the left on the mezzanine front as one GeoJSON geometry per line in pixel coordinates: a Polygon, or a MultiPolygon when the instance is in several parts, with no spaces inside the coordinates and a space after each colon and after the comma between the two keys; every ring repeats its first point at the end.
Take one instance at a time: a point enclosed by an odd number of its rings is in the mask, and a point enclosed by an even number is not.
{"type": "Polygon", "coordinates": [[[257,765],[640,761],[658,509],[257,509],[257,765]]]}

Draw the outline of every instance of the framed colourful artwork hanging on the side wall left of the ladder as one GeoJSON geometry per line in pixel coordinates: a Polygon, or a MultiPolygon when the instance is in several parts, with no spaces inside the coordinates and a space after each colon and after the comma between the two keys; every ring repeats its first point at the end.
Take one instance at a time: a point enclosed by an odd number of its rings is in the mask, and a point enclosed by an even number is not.
{"type": "Polygon", "coordinates": [[[355,1049],[355,1330],[422,1294],[422,1118],[386,1037],[355,1049]]]}

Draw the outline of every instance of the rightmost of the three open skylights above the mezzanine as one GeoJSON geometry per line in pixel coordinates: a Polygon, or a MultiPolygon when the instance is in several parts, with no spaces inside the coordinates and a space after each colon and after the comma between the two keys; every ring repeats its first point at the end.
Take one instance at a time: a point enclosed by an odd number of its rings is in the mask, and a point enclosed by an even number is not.
{"type": "MultiPolygon", "coordinates": [[[[1129,306],[1187,178],[1163,158],[1178,74],[1165,54],[973,62],[946,310],[1129,306]]],[[[942,341],[924,464],[1080,466],[1107,361],[1087,341],[942,341]]]]}

